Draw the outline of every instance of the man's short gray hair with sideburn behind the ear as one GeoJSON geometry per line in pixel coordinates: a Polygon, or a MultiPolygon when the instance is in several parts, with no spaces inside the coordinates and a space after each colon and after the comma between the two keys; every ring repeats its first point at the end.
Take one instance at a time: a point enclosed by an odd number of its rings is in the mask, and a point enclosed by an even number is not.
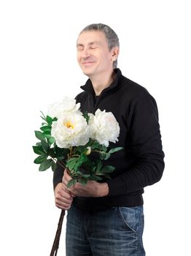
{"type": "MultiPolygon", "coordinates": [[[[119,38],[117,37],[117,34],[114,32],[113,29],[111,29],[109,26],[102,24],[102,23],[93,23],[88,26],[85,26],[84,29],[79,34],[82,34],[84,31],[90,31],[90,30],[97,30],[102,31],[105,34],[106,40],[108,42],[108,48],[109,51],[112,50],[114,47],[120,47],[119,38]]],[[[113,63],[114,69],[117,68],[117,59],[113,63]]]]}

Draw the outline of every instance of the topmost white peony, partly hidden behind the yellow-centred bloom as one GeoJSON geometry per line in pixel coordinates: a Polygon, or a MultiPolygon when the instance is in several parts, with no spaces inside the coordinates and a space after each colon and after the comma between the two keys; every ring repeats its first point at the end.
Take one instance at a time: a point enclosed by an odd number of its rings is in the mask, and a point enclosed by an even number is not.
{"type": "Polygon", "coordinates": [[[60,102],[55,102],[49,106],[47,115],[54,118],[62,116],[65,112],[77,112],[79,111],[80,103],[76,103],[76,99],[69,97],[63,97],[60,102]]]}

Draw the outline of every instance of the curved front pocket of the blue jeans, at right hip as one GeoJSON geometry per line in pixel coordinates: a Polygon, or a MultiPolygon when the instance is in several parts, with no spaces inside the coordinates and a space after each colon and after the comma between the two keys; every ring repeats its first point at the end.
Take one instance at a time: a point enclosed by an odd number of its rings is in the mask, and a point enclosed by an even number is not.
{"type": "Polygon", "coordinates": [[[128,231],[136,232],[139,228],[139,211],[138,207],[117,207],[117,213],[122,225],[128,231]]]}

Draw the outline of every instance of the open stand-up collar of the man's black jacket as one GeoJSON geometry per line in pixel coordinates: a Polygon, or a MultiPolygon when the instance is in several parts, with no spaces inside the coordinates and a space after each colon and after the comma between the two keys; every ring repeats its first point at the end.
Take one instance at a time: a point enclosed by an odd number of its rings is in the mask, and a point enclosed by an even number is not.
{"type": "MultiPolygon", "coordinates": [[[[108,86],[106,89],[104,89],[101,94],[107,92],[107,91],[113,91],[114,89],[117,89],[117,86],[119,84],[119,80],[122,77],[122,72],[120,69],[114,69],[114,72],[116,73],[116,76],[110,86],[108,86]]],[[[93,85],[90,79],[87,80],[84,86],[80,86],[80,88],[84,91],[87,91],[87,93],[91,94],[92,96],[95,95],[95,92],[93,90],[93,85]]]]}

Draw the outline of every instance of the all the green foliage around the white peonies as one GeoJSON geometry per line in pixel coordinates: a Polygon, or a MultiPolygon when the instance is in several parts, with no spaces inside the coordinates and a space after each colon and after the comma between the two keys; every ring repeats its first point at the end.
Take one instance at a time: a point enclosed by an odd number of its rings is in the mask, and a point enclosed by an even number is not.
{"type": "MultiPolygon", "coordinates": [[[[88,122],[87,113],[84,114],[88,122]]],[[[109,174],[114,171],[112,165],[104,165],[103,160],[109,159],[111,154],[120,151],[122,147],[108,150],[96,140],[90,139],[85,146],[73,146],[71,148],[59,148],[55,143],[55,138],[51,136],[52,123],[57,118],[44,116],[40,131],[35,131],[35,136],[39,140],[33,146],[35,154],[39,156],[34,159],[34,163],[39,165],[39,171],[47,170],[50,167],[55,170],[56,163],[69,170],[71,181],[68,187],[74,186],[77,182],[87,184],[87,181],[101,181],[103,178],[109,179],[109,174]],[[96,159],[90,156],[96,154],[96,159]],[[64,164],[63,164],[64,163],[64,164]]]]}

